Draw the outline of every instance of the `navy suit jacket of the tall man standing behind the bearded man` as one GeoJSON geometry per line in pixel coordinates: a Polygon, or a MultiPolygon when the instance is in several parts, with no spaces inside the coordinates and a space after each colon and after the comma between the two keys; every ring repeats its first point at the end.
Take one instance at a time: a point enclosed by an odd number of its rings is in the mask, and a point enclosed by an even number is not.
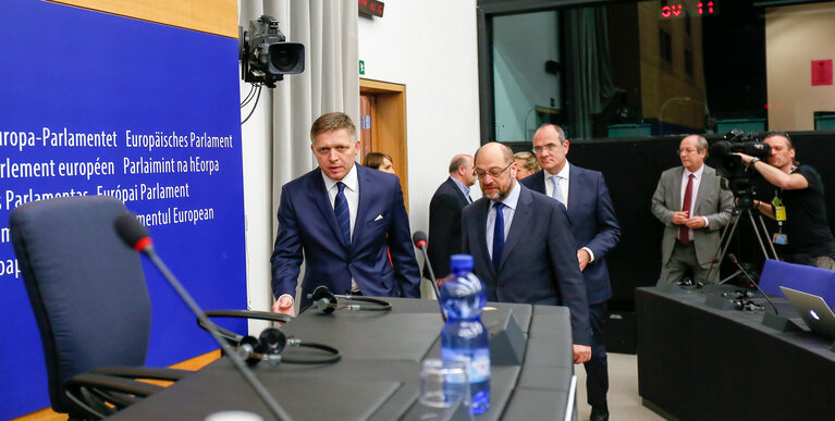
{"type": "MultiPolygon", "coordinates": [[[[588,247],[594,261],[582,271],[589,304],[612,298],[606,255],[621,238],[621,225],[615,216],[603,174],[572,165],[568,176],[568,220],[572,222],[575,251],[588,247]]],[[[541,170],[521,181],[526,187],[545,194],[545,176],[541,170]]]]}

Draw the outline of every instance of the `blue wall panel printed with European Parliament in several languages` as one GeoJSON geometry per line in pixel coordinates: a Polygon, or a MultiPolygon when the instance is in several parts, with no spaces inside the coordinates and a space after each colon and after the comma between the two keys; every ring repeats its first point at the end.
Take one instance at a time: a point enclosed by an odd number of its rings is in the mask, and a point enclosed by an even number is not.
{"type": "MultiPolygon", "coordinates": [[[[0,419],[8,419],[49,406],[40,337],[9,238],[15,207],[122,199],[205,309],[245,308],[246,268],[236,39],[3,0],[0,51],[0,419]]],[[[152,305],[147,364],[216,349],[143,264],[152,305]]],[[[224,326],[246,331],[245,321],[224,326]]]]}

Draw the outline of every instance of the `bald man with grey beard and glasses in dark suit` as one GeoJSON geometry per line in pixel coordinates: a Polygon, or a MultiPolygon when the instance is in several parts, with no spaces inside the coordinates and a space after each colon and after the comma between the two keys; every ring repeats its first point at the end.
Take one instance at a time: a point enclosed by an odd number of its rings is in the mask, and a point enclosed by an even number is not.
{"type": "Polygon", "coordinates": [[[463,252],[472,255],[487,299],[568,307],[574,362],[585,362],[591,356],[589,307],[565,209],[516,182],[516,162],[504,145],[479,148],[476,175],[483,197],[464,208],[463,252]]]}

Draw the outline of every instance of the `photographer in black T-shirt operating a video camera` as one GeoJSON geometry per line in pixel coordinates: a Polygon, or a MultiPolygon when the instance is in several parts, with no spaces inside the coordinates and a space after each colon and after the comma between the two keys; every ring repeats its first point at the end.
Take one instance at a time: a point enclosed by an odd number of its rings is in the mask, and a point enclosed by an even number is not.
{"type": "MultiPolygon", "coordinates": [[[[835,237],[826,221],[821,175],[812,166],[795,160],[795,147],[787,133],[770,132],[763,141],[771,147],[768,163],[749,154],[734,154],[774,187],[771,201],[754,200],[753,206],[777,221],[773,240],[783,245],[781,258],[835,270],[835,237]]],[[[771,196],[769,190],[762,193],[763,197],[771,196]]]]}

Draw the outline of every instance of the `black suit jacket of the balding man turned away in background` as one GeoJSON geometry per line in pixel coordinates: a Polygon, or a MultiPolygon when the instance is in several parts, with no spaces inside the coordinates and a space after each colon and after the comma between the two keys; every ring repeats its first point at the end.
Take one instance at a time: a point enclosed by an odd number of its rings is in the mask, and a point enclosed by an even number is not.
{"type": "Polygon", "coordinates": [[[428,255],[435,277],[450,273],[450,256],[461,252],[461,211],[468,203],[452,177],[438,187],[429,202],[428,255]]]}

